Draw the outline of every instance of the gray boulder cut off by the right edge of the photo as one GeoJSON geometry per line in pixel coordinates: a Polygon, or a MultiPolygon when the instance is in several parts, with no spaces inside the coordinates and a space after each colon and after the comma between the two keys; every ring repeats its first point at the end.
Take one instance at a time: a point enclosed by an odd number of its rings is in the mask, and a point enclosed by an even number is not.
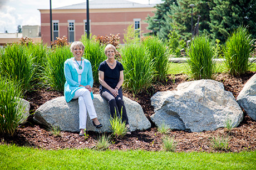
{"type": "Polygon", "coordinates": [[[256,74],[250,78],[237,96],[238,104],[256,121],[256,74]]]}

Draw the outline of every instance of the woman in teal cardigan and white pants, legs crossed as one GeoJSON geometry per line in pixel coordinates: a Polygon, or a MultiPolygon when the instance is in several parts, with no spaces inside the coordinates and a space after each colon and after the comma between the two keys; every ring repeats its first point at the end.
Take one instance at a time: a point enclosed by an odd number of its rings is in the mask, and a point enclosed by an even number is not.
{"type": "Polygon", "coordinates": [[[102,127],[97,119],[97,114],[93,106],[92,95],[92,68],[87,59],[82,58],[85,46],[82,42],[73,42],[70,47],[73,58],[67,59],[64,64],[64,74],[66,78],[64,96],[67,102],[78,99],[79,105],[79,128],[80,136],[83,136],[86,129],[87,111],[93,126],[102,127]]]}

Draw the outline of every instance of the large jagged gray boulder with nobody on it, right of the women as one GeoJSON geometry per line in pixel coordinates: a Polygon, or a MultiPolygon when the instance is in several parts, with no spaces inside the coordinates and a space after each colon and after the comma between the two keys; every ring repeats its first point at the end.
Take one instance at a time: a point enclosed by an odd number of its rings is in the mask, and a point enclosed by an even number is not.
{"type": "Polygon", "coordinates": [[[197,80],[179,84],[174,91],[157,92],[151,97],[156,126],[192,132],[224,127],[227,121],[239,125],[243,112],[231,92],[214,80],[197,80]]]}

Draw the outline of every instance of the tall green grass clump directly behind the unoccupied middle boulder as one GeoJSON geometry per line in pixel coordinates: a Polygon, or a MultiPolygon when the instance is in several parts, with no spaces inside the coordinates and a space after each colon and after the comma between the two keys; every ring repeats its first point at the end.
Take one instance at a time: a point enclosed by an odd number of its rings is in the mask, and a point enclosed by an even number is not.
{"type": "Polygon", "coordinates": [[[195,36],[189,48],[186,49],[189,56],[189,74],[195,80],[213,79],[215,61],[213,45],[206,36],[195,36]]]}

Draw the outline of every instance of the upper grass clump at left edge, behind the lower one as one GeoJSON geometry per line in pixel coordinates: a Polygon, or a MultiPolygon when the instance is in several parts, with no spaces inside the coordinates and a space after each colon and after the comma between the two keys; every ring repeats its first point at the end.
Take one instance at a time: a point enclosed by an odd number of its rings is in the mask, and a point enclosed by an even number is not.
{"type": "Polygon", "coordinates": [[[1,75],[20,84],[23,92],[33,88],[36,68],[26,45],[8,44],[1,49],[0,63],[1,75]]]}

